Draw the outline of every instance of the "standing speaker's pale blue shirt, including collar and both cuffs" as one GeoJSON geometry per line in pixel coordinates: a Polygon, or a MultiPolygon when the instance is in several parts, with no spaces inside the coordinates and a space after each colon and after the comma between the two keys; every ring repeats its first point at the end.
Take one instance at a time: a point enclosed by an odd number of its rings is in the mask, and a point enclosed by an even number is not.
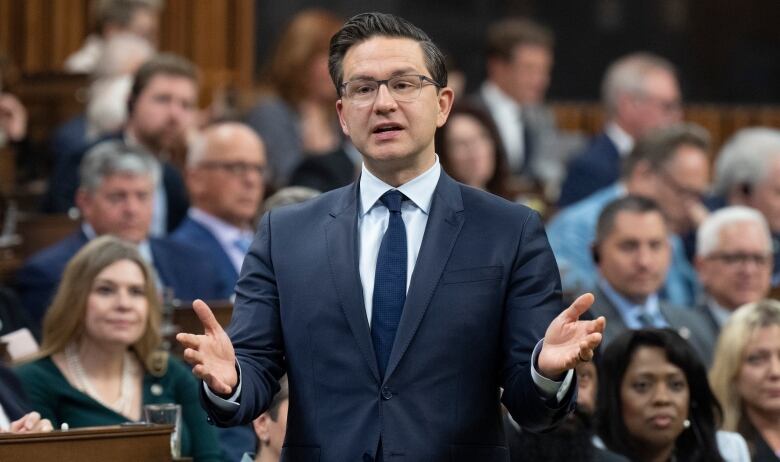
{"type": "MultiPolygon", "coordinates": [[[[376,260],[379,256],[379,246],[382,242],[382,237],[387,230],[390,220],[390,212],[387,210],[387,207],[379,202],[379,198],[391,189],[397,189],[409,198],[408,201],[404,201],[401,205],[401,218],[406,227],[408,256],[406,289],[409,290],[409,282],[417,263],[417,255],[420,253],[425,226],[428,224],[428,214],[431,208],[431,201],[433,200],[433,193],[436,190],[436,184],[439,182],[440,176],[441,165],[439,164],[438,156],[436,156],[436,160],[431,168],[398,188],[393,188],[377,178],[363,164],[360,176],[360,209],[358,210],[359,270],[360,283],[363,286],[363,301],[369,325],[373,307],[376,260]]],[[[574,377],[573,370],[569,370],[561,382],[550,380],[539,374],[536,370],[536,358],[539,356],[539,351],[541,351],[542,341],[540,340],[536,344],[531,354],[531,364],[534,365],[531,367],[531,377],[542,394],[548,397],[555,396],[560,401],[571,386],[571,381],[574,377]]],[[[227,400],[212,393],[204,382],[203,388],[206,390],[206,396],[220,409],[228,412],[234,410],[239,405],[238,397],[241,393],[240,377],[241,368],[239,365],[239,383],[233,396],[227,400]]]]}

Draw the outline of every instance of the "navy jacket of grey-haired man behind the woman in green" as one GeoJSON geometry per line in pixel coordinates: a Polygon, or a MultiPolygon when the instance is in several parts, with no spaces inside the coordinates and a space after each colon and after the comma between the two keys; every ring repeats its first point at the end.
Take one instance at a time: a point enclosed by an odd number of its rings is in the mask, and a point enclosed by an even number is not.
{"type": "MultiPolygon", "coordinates": [[[[62,241],[47,247],[29,260],[16,273],[16,288],[22,305],[37,324],[51,302],[65,265],[87,243],[79,230],[62,241]]],[[[180,300],[220,300],[229,298],[232,287],[221,285],[211,262],[200,249],[170,239],[149,239],[154,267],[165,287],[173,288],[180,300]]]]}

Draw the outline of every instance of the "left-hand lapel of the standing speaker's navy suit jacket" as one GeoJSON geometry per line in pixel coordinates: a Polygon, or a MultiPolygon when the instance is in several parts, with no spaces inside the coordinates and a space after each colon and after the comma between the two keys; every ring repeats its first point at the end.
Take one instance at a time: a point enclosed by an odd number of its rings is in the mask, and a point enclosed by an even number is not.
{"type": "Polygon", "coordinates": [[[358,264],[358,182],[344,189],[341,194],[342,197],[330,212],[332,220],[325,227],[330,272],[352,335],[374,378],[379,382],[379,368],[371,343],[358,264]]]}

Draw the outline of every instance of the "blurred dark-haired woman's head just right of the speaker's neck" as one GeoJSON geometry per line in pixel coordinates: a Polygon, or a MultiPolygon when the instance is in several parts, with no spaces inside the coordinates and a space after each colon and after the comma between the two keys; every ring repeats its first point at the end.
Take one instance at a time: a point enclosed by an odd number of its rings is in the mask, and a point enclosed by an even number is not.
{"type": "Polygon", "coordinates": [[[460,103],[447,123],[436,130],[435,145],[442,168],[455,180],[505,199],[517,199],[498,129],[482,109],[460,103]]]}

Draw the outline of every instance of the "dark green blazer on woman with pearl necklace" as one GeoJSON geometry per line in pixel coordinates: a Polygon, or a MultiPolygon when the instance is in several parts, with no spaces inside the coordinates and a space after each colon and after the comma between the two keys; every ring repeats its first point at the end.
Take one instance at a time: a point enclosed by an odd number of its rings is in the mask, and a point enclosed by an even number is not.
{"type": "MultiPolygon", "coordinates": [[[[16,369],[30,406],[51,420],[55,428],[67,422],[70,428],[117,425],[127,417],[114,412],[74,388],[50,357],[16,369]]],[[[196,461],[220,461],[216,429],[206,422],[201,409],[198,382],[178,359],[168,360],[162,377],[144,374],[143,404],[176,403],[182,408],[181,453],[196,461]]]]}

